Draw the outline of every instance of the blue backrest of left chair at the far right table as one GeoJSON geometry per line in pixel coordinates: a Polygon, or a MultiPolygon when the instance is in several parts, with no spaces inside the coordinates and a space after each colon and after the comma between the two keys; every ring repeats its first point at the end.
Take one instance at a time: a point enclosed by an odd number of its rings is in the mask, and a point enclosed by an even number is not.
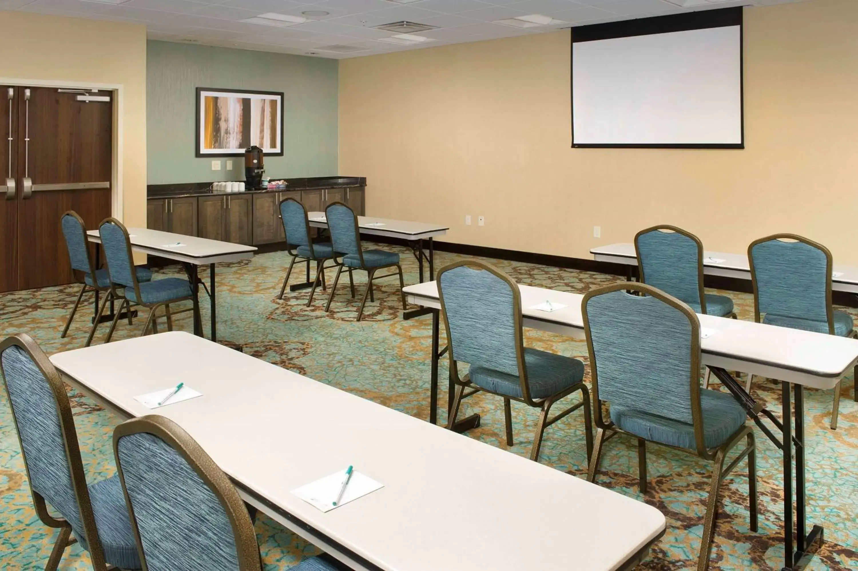
{"type": "Polygon", "coordinates": [[[640,281],[706,313],[703,243],[675,226],[654,226],[635,235],[640,281]]]}

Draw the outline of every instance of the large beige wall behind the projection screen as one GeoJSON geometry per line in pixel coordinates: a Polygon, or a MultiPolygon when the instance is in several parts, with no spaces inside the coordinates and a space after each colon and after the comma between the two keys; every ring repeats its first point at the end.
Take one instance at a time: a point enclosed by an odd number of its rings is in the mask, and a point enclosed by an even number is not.
{"type": "Polygon", "coordinates": [[[745,9],[744,150],[571,149],[568,31],[341,60],[340,173],[367,177],[372,216],[453,242],[589,258],[672,223],[727,252],[805,234],[858,264],[856,30],[855,0],[745,9]]]}

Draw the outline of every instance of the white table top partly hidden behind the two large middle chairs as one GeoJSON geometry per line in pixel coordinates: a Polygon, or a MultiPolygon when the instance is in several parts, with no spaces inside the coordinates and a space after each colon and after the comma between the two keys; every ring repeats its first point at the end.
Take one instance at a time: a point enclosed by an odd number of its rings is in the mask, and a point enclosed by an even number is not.
{"type": "MultiPolygon", "coordinates": [[[[583,337],[583,295],[526,285],[519,289],[525,327],[583,337]],[[546,300],[566,307],[550,313],[530,309],[546,300]]],[[[438,282],[410,285],[403,291],[411,303],[440,307],[438,282]]],[[[702,327],[717,331],[700,340],[704,365],[830,389],[858,361],[855,339],[699,313],[698,319],[702,327]]]]}

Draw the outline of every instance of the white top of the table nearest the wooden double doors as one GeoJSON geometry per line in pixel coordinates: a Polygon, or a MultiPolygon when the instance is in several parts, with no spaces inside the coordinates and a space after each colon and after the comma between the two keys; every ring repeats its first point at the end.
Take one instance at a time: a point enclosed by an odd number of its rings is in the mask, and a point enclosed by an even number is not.
{"type": "MultiPolygon", "coordinates": [[[[220,240],[208,240],[184,234],[172,234],[148,228],[128,228],[131,248],[137,252],[146,252],[161,258],[175,259],[191,264],[216,264],[234,262],[239,259],[253,258],[255,246],[244,246],[220,240]],[[180,244],[181,246],[176,246],[180,244]]],[[[91,242],[101,242],[98,230],[90,230],[87,238],[91,242]]]]}

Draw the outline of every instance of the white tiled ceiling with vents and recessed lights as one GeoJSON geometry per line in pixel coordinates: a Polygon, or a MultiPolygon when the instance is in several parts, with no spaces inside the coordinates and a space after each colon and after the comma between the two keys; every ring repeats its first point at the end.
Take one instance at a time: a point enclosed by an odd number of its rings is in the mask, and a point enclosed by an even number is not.
{"type": "MultiPolygon", "coordinates": [[[[701,8],[680,8],[677,3],[698,1],[702,0],[674,0],[674,3],[667,0],[418,0],[408,4],[391,0],[309,0],[305,3],[293,0],[0,0],[0,10],[132,21],[146,24],[149,39],[322,58],[354,58],[550,32],[604,21],[680,14],[701,8]],[[316,21],[291,27],[241,21],[269,12],[300,16],[307,10],[324,10],[329,15],[305,16],[316,21]],[[493,23],[532,14],[548,15],[563,23],[529,28],[493,23]],[[373,29],[373,26],[402,20],[431,24],[438,29],[420,32],[421,36],[432,39],[422,44],[400,46],[379,41],[394,33],[373,29]],[[337,53],[319,49],[332,45],[354,46],[361,51],[337,53]]],[[[801,0],[727,0],[711,3],[709,8],[796,1],[801,0]]]]}

